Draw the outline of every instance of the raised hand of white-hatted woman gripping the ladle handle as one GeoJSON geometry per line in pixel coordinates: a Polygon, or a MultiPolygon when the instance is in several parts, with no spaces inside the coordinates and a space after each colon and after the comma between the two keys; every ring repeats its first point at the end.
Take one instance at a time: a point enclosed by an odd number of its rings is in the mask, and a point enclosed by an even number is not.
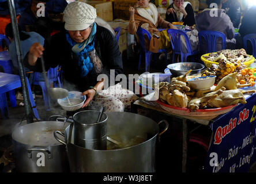
{"type": "Polygon", "coordinates": [[[39,43],[33,43],[29,49],[28,53],[28,63],[31,66],[35,66],[37,58],[41,57],[43,54],[44,48],[39,43]]]}

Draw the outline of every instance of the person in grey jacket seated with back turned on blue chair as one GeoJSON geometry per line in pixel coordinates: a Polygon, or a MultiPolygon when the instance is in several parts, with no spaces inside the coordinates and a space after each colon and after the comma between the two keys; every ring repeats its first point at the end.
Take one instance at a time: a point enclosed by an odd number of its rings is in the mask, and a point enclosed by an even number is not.
{"type": "MultiPolygon", "coordinates": [[[[228,15],[225,14],[225,10],[221,9],[221,0],[207,0],[207,5],[208,8],[195,16],[195,28],[198,32],[201,30],[214,30],[224,33],[226,37],[226,48],[235,49],[235,28],[228,15]],[[211,4],[214,5],[214,3],[216,3],[218,7],[212,7],[211,4]]],[[[202,43],[204,44],[204,40],[202,40],[202,43]]],[[[216,51],[220,51],[221,48],[222,39],[218,38],[216,51]]],[[[205,53],[205,51],[201,52],[205,53]]]]}

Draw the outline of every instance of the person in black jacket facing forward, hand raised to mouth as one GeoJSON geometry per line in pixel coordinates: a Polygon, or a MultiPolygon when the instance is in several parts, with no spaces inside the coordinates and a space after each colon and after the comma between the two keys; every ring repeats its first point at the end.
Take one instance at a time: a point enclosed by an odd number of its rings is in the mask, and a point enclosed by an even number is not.
{"type": "Polygon", "coordinates": [[[195,14],[190,2],[184,0],[174,0],[167,7],[165,20],[168,22],[184,22],[183,25],[193,26],[195,24],[195,14]]]}

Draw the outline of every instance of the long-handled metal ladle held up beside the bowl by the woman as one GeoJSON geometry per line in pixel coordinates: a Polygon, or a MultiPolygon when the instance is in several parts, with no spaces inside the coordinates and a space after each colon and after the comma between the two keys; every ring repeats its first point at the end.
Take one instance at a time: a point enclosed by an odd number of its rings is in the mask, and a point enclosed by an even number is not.
{"type": "Polygon", "coordinates": [[[44,57],[41,55],[41,63],[42,63],[42,70],[44,75],[44,81],[46,81],[46,88],[47,91],[52,99],[59,99],[59,98],[66,98],[69,95],[69,91],[63,89],[61,87],[51,87],[49,86],[48,79],[46,76],[46,68],[44,67],[44,57]]]}

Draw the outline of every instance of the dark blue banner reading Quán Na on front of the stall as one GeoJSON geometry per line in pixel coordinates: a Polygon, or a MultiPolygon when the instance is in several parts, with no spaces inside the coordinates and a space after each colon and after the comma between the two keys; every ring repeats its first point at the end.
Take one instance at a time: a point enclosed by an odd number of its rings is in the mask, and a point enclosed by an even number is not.
{"type": "Polygon", "coordinates": [[[208,173],[248,172],[256,161],[256,94],[210,122],[212,142],[205,161],[208,173]]]}

